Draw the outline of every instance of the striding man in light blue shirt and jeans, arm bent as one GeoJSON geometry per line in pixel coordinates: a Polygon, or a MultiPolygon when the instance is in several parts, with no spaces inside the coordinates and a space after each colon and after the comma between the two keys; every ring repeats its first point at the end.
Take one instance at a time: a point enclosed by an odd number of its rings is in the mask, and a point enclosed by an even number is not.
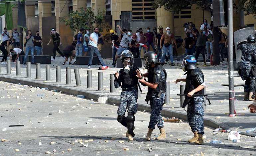
{"type": "Polygon", "coordinates": [[[97,27],[95,27],[94,32],[91,33],[89,37],[88,50],[89,50],[90,57],[89,57],[88,69],[91,69],[91,63],[92,63],[94,52],[98,56],[101,65],[106,66],[102,60],[101,54],[99,53],[99,49],[98,49],[98,39],[99,39],[98,33],[99,33],[99,30],[97,27]]]}

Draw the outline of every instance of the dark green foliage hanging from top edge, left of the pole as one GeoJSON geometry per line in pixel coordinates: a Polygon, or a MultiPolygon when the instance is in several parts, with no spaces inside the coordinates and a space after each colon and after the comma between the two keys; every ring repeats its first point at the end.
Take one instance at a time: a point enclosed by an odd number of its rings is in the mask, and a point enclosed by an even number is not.
{"type": "Polygon", "coordinates": [[[154,8],[165,7],[165,10],[168,10],[177,14],[183,8],[191,6],[192,4],[200,6],[203,9],[209,10],[211,3],[212,3],[212,0],[155,0],[153,2],[153,7],[154,8]]]}

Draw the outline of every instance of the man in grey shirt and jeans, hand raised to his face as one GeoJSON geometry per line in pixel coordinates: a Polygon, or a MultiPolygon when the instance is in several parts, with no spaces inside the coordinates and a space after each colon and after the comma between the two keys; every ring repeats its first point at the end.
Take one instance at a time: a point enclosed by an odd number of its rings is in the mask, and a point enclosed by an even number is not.
{"type": "Polygon", "coordinates": [[[25,65],[27,63],[27,57],[29,55],[29,52],[31,52],[31,63],[34,64],[34,42],[33,42],[34,36],[32,35],[31,30],[28,30],[28,34],[26,35],[26,53],[24,56],[23,64],[25,65]]]}

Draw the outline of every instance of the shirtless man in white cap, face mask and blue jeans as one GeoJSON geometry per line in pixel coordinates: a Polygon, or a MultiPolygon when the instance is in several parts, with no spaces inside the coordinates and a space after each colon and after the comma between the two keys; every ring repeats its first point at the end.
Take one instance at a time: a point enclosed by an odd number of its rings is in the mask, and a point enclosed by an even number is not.
{"type": "Polygon", "coordinates": [[[161,57],[161,64],[162,64],[162,66],[164,65],[165,56],[168,51],[168,53],[170,55],[170,59],[171,59],[171,66],[174,66],[175,64],[173,63],[173,43],[175,44],[176,49],[177,49],[177,43],[174,38],[174,35],[170,32],[170,27],[167,27],[166,30],[167,30],[167,32],[162,35],[161,40],[160,40],[160,45],[161,45],[160,48],[163,49],[163,53],[162,53],[162,57],[161,57]],[[162,46],[163,40],[164,40],[164,46],[162,46]]]}

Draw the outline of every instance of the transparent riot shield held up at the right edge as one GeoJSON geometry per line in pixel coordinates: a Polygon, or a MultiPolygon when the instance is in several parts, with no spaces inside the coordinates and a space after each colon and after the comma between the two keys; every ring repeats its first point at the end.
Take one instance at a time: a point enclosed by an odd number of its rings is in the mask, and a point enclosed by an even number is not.
{"type": "Polygon", "coordinates": [[[245,42],[247,40],[247,37],[250,34],[255,35],[254,27],[247,27],[247,28],[239,29],[234,32],[236,62],[240,62],[242,57],[242,51],[237,49],[237,47],[239,43],[245,42]]]}

